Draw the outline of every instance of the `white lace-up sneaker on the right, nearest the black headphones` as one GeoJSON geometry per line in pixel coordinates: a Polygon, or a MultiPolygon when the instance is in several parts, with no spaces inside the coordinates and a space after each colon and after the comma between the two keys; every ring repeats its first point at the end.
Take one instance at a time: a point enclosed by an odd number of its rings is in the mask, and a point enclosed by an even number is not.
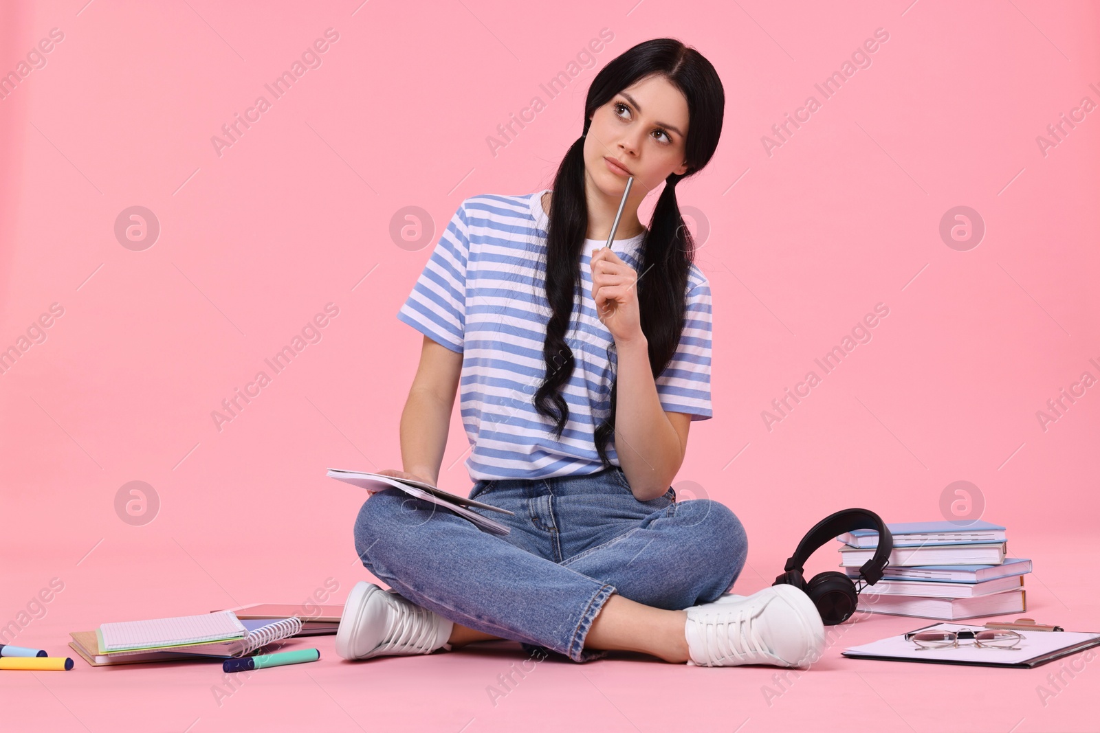
{"type": "Polygon", "coordinates": [[[800,667],[816,660],[825,646],[821,613],[794,586],[768,586],[751,596],[726,593],[684,610],[692,666],[800,667]]]}

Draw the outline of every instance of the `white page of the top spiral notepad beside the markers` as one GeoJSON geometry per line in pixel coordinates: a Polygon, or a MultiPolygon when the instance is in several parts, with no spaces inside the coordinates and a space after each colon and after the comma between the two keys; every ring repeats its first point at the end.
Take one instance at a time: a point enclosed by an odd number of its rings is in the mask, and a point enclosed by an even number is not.
{"type": "Polygon", "coordinates": [[[224,642],[249,633],[232,611],[100,624],[99,653],[224,642]]]}

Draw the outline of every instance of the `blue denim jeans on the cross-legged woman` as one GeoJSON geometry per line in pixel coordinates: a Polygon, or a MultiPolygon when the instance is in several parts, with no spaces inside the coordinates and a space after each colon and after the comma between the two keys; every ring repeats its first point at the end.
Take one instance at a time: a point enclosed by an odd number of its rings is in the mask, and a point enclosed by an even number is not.
{"type": "Polygon", "coordinates": [[[661,609],[716,600],[745,566],[740,520],[712,499],[638,501],[618,466],[586,476],[480,480],[471,508],[512,527],[496,535],[391,488],[355,520],[367,570],[417,606],[525,651],[579,663],[606,651],[584,638],[612,593],[661,609]]]}

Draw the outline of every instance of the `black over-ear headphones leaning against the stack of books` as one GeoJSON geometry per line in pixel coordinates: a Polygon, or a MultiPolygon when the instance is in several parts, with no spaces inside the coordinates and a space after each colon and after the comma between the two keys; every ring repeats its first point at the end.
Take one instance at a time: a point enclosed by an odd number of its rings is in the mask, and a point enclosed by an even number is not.
{"type": "Polygon", "coordinates": [[[867,586],[873,586],[882,577],[882,568],[890,562],[890,551],[893,549],[893,535],[878,514],[868,509],[845,509],[829,514],[817,522],[806,536],[802,537],[798,549],[788,558],[783,574],[776,578],[773,586],[789,585],[802,590],[817,607],[822,621],[826,626],[843,623],[856,612],[859,591],[867,586]],[[859,578],[864,585],[859,588],[844,573],[829,570],[818,573],[810,582],[802,577],[806,560],[815,549],[837,535],[851,530],[878,530],[879,544],[875,557],[864,563],[859,568],[859,578]]]}

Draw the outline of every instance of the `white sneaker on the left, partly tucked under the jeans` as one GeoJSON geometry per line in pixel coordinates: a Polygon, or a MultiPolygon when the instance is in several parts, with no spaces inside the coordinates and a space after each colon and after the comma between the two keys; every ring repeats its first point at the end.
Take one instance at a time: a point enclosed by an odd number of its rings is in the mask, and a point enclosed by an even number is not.
{"type": "Polygon", "coordinates": [[[344,659],[369,659],[383,655],[431,654],[451,651],[447,640],[454,623],[417,606],[395,590],[383,590],[361,580],[348,593],[337,654],[344,659]]]}

